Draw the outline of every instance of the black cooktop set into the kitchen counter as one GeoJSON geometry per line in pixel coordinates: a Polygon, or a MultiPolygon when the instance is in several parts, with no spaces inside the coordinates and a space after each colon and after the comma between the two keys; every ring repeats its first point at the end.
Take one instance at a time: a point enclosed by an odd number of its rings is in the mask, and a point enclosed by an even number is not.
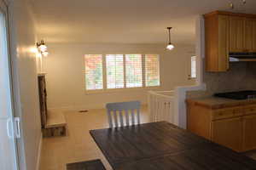
{"type": "Polygon", "coordinates": [[[227,99],[256,99],[256,91],[245,90],[245,91],[238,91],[238,92],[228,92],[228,93],[214,94],[214,96],[219,98],[227,98],[227,99]]]}

